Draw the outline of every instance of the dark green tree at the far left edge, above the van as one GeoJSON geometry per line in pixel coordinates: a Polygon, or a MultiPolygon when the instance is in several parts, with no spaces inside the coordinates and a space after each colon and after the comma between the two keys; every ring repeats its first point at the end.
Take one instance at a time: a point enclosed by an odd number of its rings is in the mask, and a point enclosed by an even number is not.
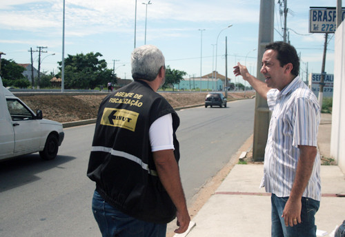
{"type": "Polygon", "coordinates": [[[1,77],[4,86],[28,87],[30,82],[25,79],[24,71],[25,68],[18,65],[12,59],[1,59],[1,77]]]}

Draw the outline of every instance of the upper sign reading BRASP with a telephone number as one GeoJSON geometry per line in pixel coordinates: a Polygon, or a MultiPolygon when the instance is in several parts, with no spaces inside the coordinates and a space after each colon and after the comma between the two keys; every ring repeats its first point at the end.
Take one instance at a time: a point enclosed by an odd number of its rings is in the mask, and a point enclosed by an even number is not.
{"type": "MultiPolygon", "coordinates": [[[[342,8],[342,21],[345,18],[345,8],[342,8]]],[[[309,32],[334,33],[337,29],[337,9],[311,7],[309,10],[309,32]]]]}

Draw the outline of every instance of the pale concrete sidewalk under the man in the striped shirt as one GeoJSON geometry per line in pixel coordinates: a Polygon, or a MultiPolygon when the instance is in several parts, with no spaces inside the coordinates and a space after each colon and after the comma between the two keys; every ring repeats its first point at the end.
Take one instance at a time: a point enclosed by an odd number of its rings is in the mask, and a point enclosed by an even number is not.
{"type": "MultiPolygon", "coordinates": [[[[330,117],[323,114],[319,127],[319,150],[327,158],[330,117]]],[[[259,188],[263,169],[262,163],[235,165],[193,218],[189,231],[175,237],[270,236],[270,194],[259,188]]],[[[345,197],[341,197],[345,195],[345,175],[337,165],[322,165],[321,178],[322,200],[315,216],[317,234],[329,236],[345,220],[345,197]]]]}

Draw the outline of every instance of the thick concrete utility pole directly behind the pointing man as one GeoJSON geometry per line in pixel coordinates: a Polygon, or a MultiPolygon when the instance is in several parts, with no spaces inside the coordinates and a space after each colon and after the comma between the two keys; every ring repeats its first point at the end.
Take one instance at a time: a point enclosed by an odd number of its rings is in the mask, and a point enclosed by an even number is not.
{"type": "MultiPolygon", "coordinates": [[[[260,81],[265,81],[264,76],[260,72],[262,67],[262,55],[264,54],[266,44],[273,42],[274,10],[274,0],[261,0],[259,17],[259,42],[257,45],[257,79],[260,81]]],[[[255,99],[253,135],[254,161],[264,161],[269,123],[270,110],[268,110],[267,101],[257,93],[255,99]]]]}

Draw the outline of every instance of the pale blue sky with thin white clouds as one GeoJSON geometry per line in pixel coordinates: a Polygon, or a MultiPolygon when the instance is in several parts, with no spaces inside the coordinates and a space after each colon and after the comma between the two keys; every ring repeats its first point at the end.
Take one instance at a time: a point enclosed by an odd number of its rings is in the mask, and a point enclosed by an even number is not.
{"type": "MultiPolygon", "coordinates": [[[[199,77],[217,69],[235,79],[235,63],[246,63],[257,74],[259,0],[66,0],[64,56],[99,52],[121,79],[131,79],[130,53],[145,44],[156,45],[166,65],[199,77]],[[147,15],[146,15],[147,7],[147,15]],[[145,31],[146,25],[146,31],[145,31]],[[232,25],[227,28],[228,25],[232,25]],[[218,37],[219,36],[219,37],[218,37]],[[217,40],[218,37],[218,40],[217,40]],[[217,61],[217,63],[216,63],[217,61]],[[216,68],[217,64],[217,68],[216,68]]],[[[324,34],[309,33],[309,8],[335,7],[336,0],[289,0],[289,40],[301,56],[301,75],[320,73],[324,34]]],[[[342,3],[344,7],[344,1],[342,3]]],[[[274,40],[282,41],[283,17],[275,0],[274,40]]],[[[59,72],[63,45],[63,0],[0,0],[1,59],[30,63],[30,48],[43,46],[41,72],[59,72]],[[54,54],[54,55],[52,55],[54,54]]],[[[329,34],[326,68],[333,73],[334,34],[329,34]]],[[[38,69],[39,53],[33,53],[38,69]]],[[[259,61],[261,61],[261,56],[259,61]]],[[[237,76],[235,82],[243,82],[237,76]]]]}

